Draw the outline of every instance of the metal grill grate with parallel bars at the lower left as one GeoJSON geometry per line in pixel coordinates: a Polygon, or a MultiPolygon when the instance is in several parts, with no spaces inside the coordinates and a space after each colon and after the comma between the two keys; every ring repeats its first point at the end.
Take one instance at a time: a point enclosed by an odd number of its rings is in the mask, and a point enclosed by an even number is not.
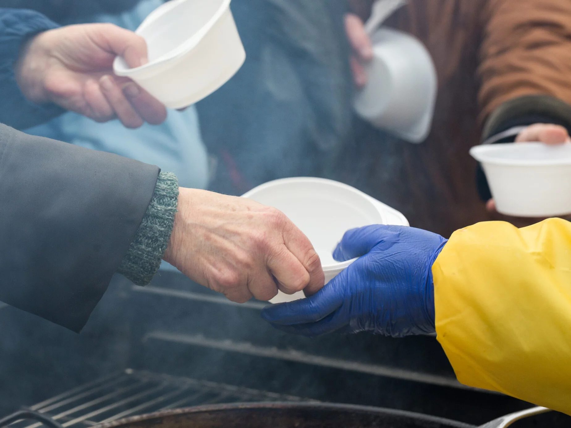
{"type": "MultiPolygon", "coordinates": [[[[127,369],[86,383],[30,410],[45,413],[65,427],[89,427],[142,413],[214,403],[246,401],[314,401],[167,374],[127,369]]],[[[12,428],[38,428],[42,423],[22,420],[12,428]]]]}

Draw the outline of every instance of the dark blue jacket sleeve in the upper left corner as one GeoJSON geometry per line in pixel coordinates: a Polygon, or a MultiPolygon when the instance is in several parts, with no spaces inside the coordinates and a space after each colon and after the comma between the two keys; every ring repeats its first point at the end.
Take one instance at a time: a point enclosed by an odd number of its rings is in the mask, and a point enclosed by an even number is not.
{"type": "Polygon", "coordinates": [[[0,8],[0,123],[22,130],[46,122],[65,111],[51,103],[31,103],[22,94],[14,74],[22,43],[41,31],[55,27],[58,25],[37,12],[0,8]]]}

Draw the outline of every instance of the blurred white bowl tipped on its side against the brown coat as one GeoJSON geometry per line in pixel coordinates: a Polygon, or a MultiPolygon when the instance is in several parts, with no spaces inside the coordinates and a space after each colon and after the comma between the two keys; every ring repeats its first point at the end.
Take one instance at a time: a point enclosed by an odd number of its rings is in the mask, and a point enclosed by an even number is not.
{"type": "Polygon", "coordinates": [[[436,68],[424,45],[401,31],[381,28],[371,36],[373,59],[367,84],[357,91],[361,118],[411,143],[427,138],[436,102],[436,68]]]}

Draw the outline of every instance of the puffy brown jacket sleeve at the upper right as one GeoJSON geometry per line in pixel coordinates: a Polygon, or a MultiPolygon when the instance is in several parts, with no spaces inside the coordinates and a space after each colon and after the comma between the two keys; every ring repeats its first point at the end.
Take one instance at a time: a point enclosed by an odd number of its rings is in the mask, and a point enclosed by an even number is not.
{"type": "Polygon", "coordinates": [[[571,123],[571,1],[489,0],[482,14],[480,120],[494,122],[484,134],[516,115],[571,123]]]}

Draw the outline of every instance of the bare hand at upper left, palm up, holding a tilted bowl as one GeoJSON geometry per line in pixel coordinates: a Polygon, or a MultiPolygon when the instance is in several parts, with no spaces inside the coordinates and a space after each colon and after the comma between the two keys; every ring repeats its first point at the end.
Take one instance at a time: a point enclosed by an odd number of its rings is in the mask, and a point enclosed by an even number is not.
{"type": "Polygon", "coordinates": [[[16,80],[31,102],[53,102],[97,122],[118,118],[128,128],[162,123],[163,104],[132,80],[113,76],[116,55],[130,67],[148,62],[144,39],[112,24],[49,30],[22,47],[16,80]]]}

